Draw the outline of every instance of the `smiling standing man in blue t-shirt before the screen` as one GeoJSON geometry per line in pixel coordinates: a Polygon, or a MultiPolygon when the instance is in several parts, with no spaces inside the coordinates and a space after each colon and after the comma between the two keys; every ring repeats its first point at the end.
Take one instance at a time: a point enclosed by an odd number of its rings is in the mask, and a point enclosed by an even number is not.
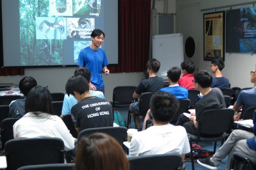
{"type": "Polygon", "coordinates": [[[108,59],[105,51],[100,48],[104,41],[105,34],[95,29],[91,33],[91,45],[82,49],[78,55],[77,66],[85,67],[91,71],[91,83],[89,84],[90,90],[105,92],[105,86],[101,73],[105,75],[110,74],[107,68],[108,59]]]}

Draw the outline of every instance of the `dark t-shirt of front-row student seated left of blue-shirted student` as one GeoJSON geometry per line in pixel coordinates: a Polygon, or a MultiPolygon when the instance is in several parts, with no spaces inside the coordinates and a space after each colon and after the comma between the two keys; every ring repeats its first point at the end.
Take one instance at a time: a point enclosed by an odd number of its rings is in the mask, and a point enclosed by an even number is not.
{"type": "Polygon", "coordinates": [[[164,79],[162,77],[148,77],[140,82],[135,90],[135,93],[141,94],[146,92],[159,92],[159,90],[163,87],[164,79]]]}

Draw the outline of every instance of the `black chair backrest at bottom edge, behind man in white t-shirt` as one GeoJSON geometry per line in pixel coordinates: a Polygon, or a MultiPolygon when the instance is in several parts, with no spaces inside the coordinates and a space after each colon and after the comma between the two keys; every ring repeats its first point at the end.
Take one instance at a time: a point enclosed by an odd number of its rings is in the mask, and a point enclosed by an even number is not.
{"type": "Polygon", "coordinates": [[[178,153],[136,156],[128,160],[130,170],[178,170],[182,164],[178,153]]]}

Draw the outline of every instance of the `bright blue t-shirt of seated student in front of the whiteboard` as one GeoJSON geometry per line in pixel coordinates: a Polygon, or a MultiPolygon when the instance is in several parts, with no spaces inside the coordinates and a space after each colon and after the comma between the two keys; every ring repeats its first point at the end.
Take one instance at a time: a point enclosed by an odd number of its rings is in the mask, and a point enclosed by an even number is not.
{"type": "Polygon", "coordinates": [[[188,89],[179,86],[179,85],[170,85],[169,87],[165,87],[160,89],[160,92],[169,92],[172,93],[177,99],[188,99],[188,89]]]}

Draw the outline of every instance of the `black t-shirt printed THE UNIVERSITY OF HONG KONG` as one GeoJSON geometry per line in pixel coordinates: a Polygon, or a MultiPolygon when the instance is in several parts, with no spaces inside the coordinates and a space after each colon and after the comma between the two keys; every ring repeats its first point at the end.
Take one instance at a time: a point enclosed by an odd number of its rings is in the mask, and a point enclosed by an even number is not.
{"type": "Polygon", "coordinates": [[[113,108],[105,99],[91,96],[84,98],[71,109],[75,127],[80,130],[93,127],[112,127],[113,108]]]}

